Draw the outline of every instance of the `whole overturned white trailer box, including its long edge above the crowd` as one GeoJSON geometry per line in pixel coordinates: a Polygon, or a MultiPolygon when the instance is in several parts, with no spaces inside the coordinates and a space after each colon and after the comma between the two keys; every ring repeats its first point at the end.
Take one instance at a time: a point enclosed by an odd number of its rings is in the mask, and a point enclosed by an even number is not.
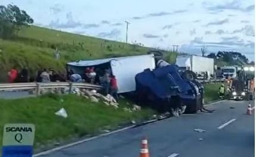
{"type": "Polygon", "coordinates": [[[135,76],[145,69],[155,69],[154,54],[125,56],[117,58],[96,59],[91,61],[69,62],[67,70],[75,73],[83,73],[86,67],[110,64],[111,71],[117,79],[118,93],[132,92],[136,90],[135,76]]]}

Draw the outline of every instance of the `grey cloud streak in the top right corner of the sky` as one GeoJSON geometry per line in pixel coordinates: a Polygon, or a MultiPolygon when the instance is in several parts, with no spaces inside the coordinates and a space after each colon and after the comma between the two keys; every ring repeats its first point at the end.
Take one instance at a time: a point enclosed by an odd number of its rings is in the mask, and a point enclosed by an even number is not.
{"type": "Polygon", "coordinates": [[[221,5],[209,5],[203,2],[202,5],[204,5],[204,7],[207,8],[207,10],[209,11],[217,11],[217,12],[222,12],[224,10],[249,12],[254,10],[254,5],[249,5],[246,8],[242,8],[241,2],[242,2],[241,0],[233,0],[221,5]]]}

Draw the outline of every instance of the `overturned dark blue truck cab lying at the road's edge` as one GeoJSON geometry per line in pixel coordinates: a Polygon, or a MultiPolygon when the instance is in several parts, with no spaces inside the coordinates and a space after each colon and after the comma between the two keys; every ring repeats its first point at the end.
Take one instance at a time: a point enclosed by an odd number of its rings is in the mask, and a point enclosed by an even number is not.
{"type": "Polygon", "coordinates": [[[136,75],[137,102],[174,116],[199,110],[212,112],[203,107],[204,86],[194,76],[192,71],[181,71],[177,65],[159,60],[155,70],[136,75]]]}

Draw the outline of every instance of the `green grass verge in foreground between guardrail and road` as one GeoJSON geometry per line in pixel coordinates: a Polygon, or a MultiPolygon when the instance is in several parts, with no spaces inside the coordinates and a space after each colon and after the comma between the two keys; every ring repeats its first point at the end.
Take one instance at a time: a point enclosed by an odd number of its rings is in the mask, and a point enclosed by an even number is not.
{"type": "Polygon", "coordinates": [[[120,100],[120,107],[115,109],[113,106],[101,102],[92,103],[76,95],[48,95],[38,98],[0,100],[0,102],[0,141],[2,141],[4,124],[32,123],[36,125],[36,148],[74,137],[95,135],[101,130],[114,129],[132,120],[145,120],[154,114],[151,109],[124,111],[124,106],[129,106],[124,99],[120,100]],[[55,115],[55,112],[61,108],[66,109],[68,118],[55,115]]]}

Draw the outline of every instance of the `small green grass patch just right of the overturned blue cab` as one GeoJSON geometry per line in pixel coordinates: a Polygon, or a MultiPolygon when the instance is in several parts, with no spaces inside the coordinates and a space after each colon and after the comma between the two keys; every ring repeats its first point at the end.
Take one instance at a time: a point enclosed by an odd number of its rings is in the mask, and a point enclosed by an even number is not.
{"type": "Polygon", "coordinates": [[[223,83],[214,83],[214,84],[204,85],[204,90],[205,90],[204,102],[205,103],[210,103],[220,99],[218,97],[218,88],[221,86],[221,84],[223,83]]]}

